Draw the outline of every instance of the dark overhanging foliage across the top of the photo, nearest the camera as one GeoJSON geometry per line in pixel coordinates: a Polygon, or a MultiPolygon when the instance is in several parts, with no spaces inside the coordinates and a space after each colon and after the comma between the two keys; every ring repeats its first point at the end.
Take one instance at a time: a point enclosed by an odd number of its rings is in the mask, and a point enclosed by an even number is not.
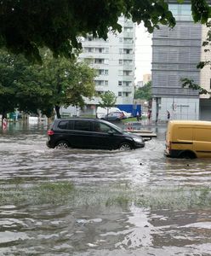
{"type": "MultiPolygon", "coordinates": [[[[208,20],[208,0],[191,0],[191,7],[194,21],[208,20]]],[[[42,61],[40,47],[71,57],[81,48],[78,37],[89,33],[106,39],[109,31],[121,32],[121,15],[143,21],[148,32],[159,24],[175,25],[165,0],[1,0],[0,47],[32,61],[42,61]]]]}

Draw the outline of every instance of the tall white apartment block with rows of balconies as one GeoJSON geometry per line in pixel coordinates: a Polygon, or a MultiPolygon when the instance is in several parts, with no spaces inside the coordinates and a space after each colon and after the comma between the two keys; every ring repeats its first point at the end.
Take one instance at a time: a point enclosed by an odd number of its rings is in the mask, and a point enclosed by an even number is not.
{"type": "MultiPolygon", "coordinates": [[[[132,20],[123,16],[119,19],[122,32],[108,34],[105,41],[88,35],[83,38],[83,53],[79,58],[87,61],[97,71],[95,90],[103,94],[111,90],[117,96],[117,107],[125,111],[133,111],[134,99],[134,50],[135,26],[132,20]]],[[[86,100],[86,112],[94,113],[100,97],[86,100]]]]}

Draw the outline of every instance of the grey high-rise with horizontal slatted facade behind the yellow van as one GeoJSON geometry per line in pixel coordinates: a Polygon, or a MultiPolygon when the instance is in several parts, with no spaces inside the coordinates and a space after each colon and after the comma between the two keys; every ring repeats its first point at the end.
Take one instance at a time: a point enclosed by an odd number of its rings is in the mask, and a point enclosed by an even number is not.
{"type": "MultiPolygon", "coordinates": [[[[160,26],[152,37],[152,120],[200,119],[197,90],[182,88],[180,79],[202,82],[197,63],[202,60],[203,26],[191,19],[191,1],[168,1],[176,26],[160,26]]],[[[210,75],[210,74],[209,74],[210,75]]],[[[207,79],[205,79],[207,80],[207,79]]],[[[201,104],[202,105],[202,104],[201,104]]],[[[211,119],[211,115],[210,115],[211,119]]]]}

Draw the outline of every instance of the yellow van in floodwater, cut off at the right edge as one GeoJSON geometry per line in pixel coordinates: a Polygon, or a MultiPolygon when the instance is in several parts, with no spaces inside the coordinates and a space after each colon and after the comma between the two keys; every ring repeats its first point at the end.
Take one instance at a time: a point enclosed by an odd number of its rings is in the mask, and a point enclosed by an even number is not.
{"type": "Polygon", "coordinates": [[[169,121],[165,154],[175,158],[211,157],[211,122],[169,121]]]}

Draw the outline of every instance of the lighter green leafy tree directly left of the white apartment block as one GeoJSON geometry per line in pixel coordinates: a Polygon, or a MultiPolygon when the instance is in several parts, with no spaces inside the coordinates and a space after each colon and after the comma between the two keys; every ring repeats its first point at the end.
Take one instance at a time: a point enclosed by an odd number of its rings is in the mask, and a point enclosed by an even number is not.
{"type": "Polygon", "coordinates": [[[83,108],[85,98],[94,96],[95,70],[83,62],[64,57],[54,58],[49,54],[43,58],[45,83],[51,84],[52,96],[48,102],[54,104],[57,117],[60,118],[61,106],[83,108]]]}

